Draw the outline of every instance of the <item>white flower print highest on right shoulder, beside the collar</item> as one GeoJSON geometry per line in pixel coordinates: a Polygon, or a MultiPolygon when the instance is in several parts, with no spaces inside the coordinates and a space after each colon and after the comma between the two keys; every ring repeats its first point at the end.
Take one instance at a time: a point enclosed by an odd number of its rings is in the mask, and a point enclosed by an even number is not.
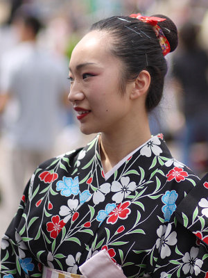
{"type": "Polygon", "coordinates": [[[158,145],[160,144],[161,142],[157,136],[151,138],[150,140],[148,140],[146,145],[144,145],[144,147],[141,148],[141,156],[150,157],[152,155],[152,152],[153,154],[155,154],[155,156],[159,156],[159,154],[162,153],[162,149],[158,147],[158,145]]]}

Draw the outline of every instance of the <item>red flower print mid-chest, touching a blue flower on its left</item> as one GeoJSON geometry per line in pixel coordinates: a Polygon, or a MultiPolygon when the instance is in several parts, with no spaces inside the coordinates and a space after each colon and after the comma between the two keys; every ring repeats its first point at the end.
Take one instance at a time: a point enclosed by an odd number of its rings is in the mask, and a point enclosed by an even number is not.
{"type": "Polygon", "coordinates": [[[128,218],[128,215],[130,214],[130,208],[128,208],[128,206],[130,205],[130,202],[124,202],[123,204],[119,204],[119,206],[116,206],[116,208],[114,208],[114,210],[109,213],[108,215],[108,219],[107,219],[107,223],[116,223],[116,221],[118,220],[118,218],[120,219],[126,219],[128,218]]]}

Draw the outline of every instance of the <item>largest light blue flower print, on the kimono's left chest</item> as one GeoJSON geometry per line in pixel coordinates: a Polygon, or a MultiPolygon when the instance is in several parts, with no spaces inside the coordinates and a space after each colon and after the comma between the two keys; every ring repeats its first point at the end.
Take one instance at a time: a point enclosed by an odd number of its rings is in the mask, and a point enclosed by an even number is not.
{"type": "Polygon", "coordinates": [[[80,191],[78,177],[74,179],[63,177],[63,181],[56,183],[56,190],[60,190],[60,194],[65,197],[69,197],[71,194],[78,195],[80,191]]]}

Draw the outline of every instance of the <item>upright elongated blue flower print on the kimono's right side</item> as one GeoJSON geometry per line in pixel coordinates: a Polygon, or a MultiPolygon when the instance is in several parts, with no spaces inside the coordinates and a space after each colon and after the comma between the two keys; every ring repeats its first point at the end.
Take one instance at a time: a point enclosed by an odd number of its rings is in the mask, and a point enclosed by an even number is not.
{"type": "Polygon", "coordinates": [[[162,196],[162,202],[164,202],[165,206],[162,207],[162,212],[164,213],[164,222],[168,222],[171,219],[171,215],[173,211],[175,211],[176,205],[175,201],[177,199],[177,193],[175,190],[166,191],[166,193],[162,196]]]}

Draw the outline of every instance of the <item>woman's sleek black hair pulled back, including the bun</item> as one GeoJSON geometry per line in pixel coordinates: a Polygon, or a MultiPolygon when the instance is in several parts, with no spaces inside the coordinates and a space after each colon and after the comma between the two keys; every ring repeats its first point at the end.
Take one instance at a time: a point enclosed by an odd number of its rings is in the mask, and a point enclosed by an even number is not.
{"type": "MultiPolygon", "coordinates": [[[[166,18],[158,25],[162,28],[173,51],[177,47],[175,24],[164,15],[154,16],[166,18]]],[[[167,72],[166,60],[153,27],[136,18],[114,16],[93,24],[90,31],[94,30],[107,31],[112,35],[110,51],[125,65],[121,73],[122,91],[125,90],[126,81],[135,80],[141,70],[150,73],[151,82],[146,97],[146,110],[152,111],[162,99],[164,76],[167,72]]]]}

